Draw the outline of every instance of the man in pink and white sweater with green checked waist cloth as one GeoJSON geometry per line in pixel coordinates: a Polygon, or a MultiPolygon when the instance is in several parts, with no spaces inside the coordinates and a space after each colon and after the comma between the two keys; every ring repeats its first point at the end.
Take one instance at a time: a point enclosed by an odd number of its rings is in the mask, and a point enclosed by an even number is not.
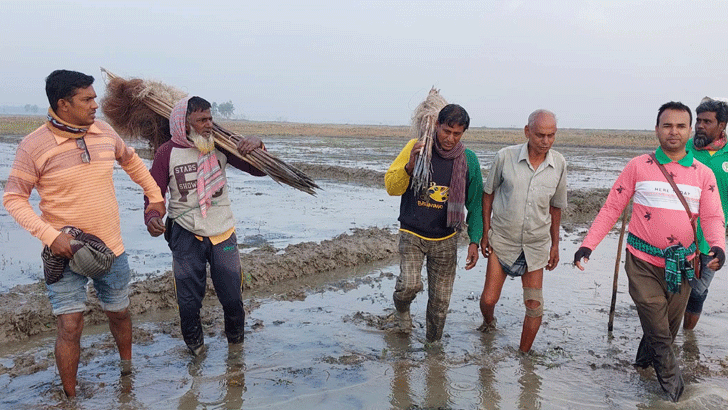
{"type": "Polygon", "coordinates": [[[685,149],[691,122],[690,108],[682,103],[671,101],[660,107],[655,126],[660,146],[627,164],[574,255],[574,264],[584,270],[582,259],[589,259],[633,199],[624,269],[643,331],[635,366],[653,366],[672,401],[684,389],[672,343],[690,296],[688,280],[694,271],[689,260],[696,250],[686,206],[700,217],[711,269],[718,270],[725,262],[725,226],[715,175],[685,149]]]}

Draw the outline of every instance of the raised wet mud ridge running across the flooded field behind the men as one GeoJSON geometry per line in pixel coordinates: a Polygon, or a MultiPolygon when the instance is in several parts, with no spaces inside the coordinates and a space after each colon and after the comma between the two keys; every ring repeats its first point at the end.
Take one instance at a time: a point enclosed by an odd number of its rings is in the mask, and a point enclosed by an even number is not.
{"type": "MultiPolygon", "coordinates": [[[[329,167],[322,168],[321,172],[326,172],[329,167]]],[[[563,216],[564,230],[570,232],[579,226],[586,228],[585,223],[594,219],[607,193],[606,189],[569,191],[569,207],[563,216]]],[[[396,231],[375,227],[356,228],[351,233],[329,240],[288,245],[281,250],[265,245],[241,254],[244,289],[270,290],[293,279],[373,261],[392,260],[398,255],[397,240],[396,231]]],[[[209,280],[207,292],[214,295],[209,280]]],[[[132,283],[130,299],[129,309],[133,315],[175,308],[171,272],[132,283]]],[[[105,321],[106,316],[92,295],[86,323],[93,325],[105,321]]],[[[0,344],[53,331],[55,327],[44,284],[15,286],[0,298],[0,344]]]]}

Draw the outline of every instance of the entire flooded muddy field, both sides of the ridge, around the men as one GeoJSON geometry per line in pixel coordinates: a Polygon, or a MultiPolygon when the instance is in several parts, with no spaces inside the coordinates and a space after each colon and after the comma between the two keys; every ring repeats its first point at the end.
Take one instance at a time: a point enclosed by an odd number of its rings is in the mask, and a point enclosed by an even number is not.
{"type": "MultiPolygon", "coordinates": [[[[134,218],[123,231],[135,272],[134,360],[131,372],[120,375],[120,366],[128,364],[118,363],[103,314],[91,302],[80,393],[72,403],[61,397],[55,370],[55,323],[39,282],[40,247],[0,210],[0,389],[6,392],[0,408],[728,407],[725,301],[709,298],[698,329],[678,336],[688,386],[675,406],[664,401],[654,372],[637,373],[631,366],[641,332],[624,272],[615,331],[607,335],[616,235],[594,252],[587,273],[568,263],[619,170],[648,146],[644,132],[565,132],[579,141],[613,138],[600,148],[555,147],[570,172],[561,263],[545,278],[544,324],[532,354],[523,356],[517,353],[520,284],[508,281],[504,287],[498,330],[475,331],[482,321],[478,298],[485,260],[465,271],[464,239],[442,344],[432,349],[423,343],[426,294],[412,307],[413,335],[392,330],[398,198],[386,195],[382,179],[407,140],[404,127],[374,127],[369,131],[376,137],[367,138],[366,127],[284,125],[267,124],[269,131],[257,133],[270,152],[324,189],[309,197],[268,178],[230,173],[233,202],[244,204],[235,209],[248,312],[242,349],[228,348],[221,336],[221,309],[208,286],[203,309],[208,349],[199,358],[186,352],[168,272],[171,254],[137,221],[139,190],[123,173],[116,175],[122,217],[134,218]],[[335,135],[346,132],[350,135],[335,135]],[[614,142],[630,140],[637,143],[614,142]]],[[[520,131],[506,131],[503,138],[520,142],[520,131]]],[[[466,140],[484,173],[494,152],[510,143],[475,132],[466,140]]],[[[15,144],[17,137],[0,139],[3,185],[15,144]]],[[[724,281],[711,287],[714,295],[726,291],[724,281]]]]}

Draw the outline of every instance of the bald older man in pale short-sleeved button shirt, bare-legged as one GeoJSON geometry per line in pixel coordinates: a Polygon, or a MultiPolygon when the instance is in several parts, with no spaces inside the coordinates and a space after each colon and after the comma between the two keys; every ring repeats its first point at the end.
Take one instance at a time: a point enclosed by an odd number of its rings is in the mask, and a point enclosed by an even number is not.
{"type": "Polygon", "coordinates": [[[496,153],[483,187],[480,242],[488,258],[480,296],[483,324],[495,329],[495,305],[508,276],[520,277],[526,316],[519,349],[527,353],[541,327],[543,270],[559,263],[561,210],[566,208],[566,160],[551,149],[556,116],[536,110],[528,117],[527,141],[496,153]]]}

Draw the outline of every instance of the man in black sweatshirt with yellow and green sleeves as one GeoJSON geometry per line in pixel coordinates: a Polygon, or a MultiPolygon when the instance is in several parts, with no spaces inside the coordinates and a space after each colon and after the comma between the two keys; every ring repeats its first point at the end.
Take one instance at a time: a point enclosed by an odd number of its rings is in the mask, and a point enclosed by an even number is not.
{"type": "Polygon", "coordinates": [[[415,192],[411,175],[424,144],[411,140],[384,176],[389,195],[400,202],[400,275],[394,290],[399,328],[412,331],[410,304],[422,290],[422,264],[427,258],[428,301],[426,340],[442,338],[457,267],[458,228],[465,222],[467,209],[468,256],[465,269],[478,261],[478,242],[483,233],[481,197],[483,180],[475,153],[460,141],[470,125],[470,117],[457,104],[440,110],[435,124],[432,148],[432,186],[415,192]]]}

